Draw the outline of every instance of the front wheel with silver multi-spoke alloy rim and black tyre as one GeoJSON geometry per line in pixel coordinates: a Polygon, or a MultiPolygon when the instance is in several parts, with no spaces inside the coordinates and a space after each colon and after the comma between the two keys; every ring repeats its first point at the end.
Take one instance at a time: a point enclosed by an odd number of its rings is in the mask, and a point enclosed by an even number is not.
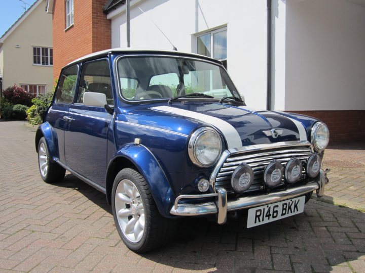
{"type": "Polygon", "coordinates": [[[176,221],[162,217],[143,176],[134,169],[121,170],[113,184],[114,221],[124,244],[143,253],[165,245],[174,235],[176,221]]]}

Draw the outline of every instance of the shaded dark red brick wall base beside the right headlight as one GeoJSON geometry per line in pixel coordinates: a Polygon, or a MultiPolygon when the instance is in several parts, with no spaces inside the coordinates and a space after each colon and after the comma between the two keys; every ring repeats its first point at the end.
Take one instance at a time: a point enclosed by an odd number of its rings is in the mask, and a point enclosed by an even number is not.
{"type": "Polygon", "coordinates": [[[365,110],[288,112],[312,116],[323,121],[330,129],[330,143],[365,139],[365,110]]]}

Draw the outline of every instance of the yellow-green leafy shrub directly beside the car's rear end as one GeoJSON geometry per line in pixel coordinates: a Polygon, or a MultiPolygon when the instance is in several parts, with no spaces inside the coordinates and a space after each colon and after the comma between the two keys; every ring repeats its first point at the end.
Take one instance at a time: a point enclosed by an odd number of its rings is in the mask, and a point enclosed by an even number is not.
{"type": "Polygon", "coordinates": [[[43,122],[48,107],[51,105],[53,93],[40,95],[32,99],[33,105],[26,112],[27,120],[32,125],[39,125],[43,122]]]}

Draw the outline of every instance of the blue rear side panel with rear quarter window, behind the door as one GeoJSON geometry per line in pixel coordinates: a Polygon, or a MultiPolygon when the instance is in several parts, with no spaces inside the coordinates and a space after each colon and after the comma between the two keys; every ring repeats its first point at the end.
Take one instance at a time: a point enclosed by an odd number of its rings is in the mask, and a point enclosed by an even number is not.
{"type": "Polygon", "coordinates": [[[57,85],[55,100],[47,115],[47,121],[56,132],[59,160],[63,164],[66,163],[64,150],[64,130],[68,126],[66,117],[68,115],[69,106],[74,101],[77,75],[78,65],[62,70],[57,85]]]}

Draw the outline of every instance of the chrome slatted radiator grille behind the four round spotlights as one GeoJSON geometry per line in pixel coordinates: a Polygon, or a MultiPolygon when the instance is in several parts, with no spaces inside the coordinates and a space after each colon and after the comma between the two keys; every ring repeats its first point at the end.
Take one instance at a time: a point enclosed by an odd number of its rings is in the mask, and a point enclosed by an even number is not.
{"type": "MultiPolygon", "coordinates": [[[[284,167],[291,157],[295,156],[302,161],[303,170],[302,177],[304,179],[306,162],[312,154],[311,146],[307,145],[289,145],[279,146],[269,149],[253,149],[235,152],[231,154],[223,163],[215,178],[215,187],[224,187],[228,191],[231,188],[231,176],[233,171],[241,163],[247,163],[253,170],[254,180],[252,186],[247,190],[256,191],[264,187],[264,170],[265,167],[272,161],[278,160],[284,167]]],[[[233,191],[233,190],[232,190],[233,191]]]]}

